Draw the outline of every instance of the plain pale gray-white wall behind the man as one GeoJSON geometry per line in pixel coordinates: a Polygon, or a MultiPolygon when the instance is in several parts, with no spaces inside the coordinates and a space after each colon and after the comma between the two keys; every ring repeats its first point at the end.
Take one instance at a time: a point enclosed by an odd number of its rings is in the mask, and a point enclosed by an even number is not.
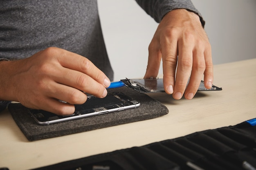
{"type": "MultiPolygon", "coordinates": [[[[256,0],[192,0],[206,21],[213,64],[256,57],[256,0]]],[[[143,77],[157,23],[135,0],[98,0],[114,80],[143,77]]],[[[159,72],[162,72],[162,67],[159,72]]]]}

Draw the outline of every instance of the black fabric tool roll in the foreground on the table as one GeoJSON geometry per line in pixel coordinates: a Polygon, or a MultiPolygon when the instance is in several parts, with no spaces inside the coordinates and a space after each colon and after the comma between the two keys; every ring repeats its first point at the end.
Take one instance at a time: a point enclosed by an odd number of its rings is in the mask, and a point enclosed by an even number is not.
{"type": "Polygon", "coordinates": [[[256,126],[195,132],[34,170],[255,170],[256,126]]]}

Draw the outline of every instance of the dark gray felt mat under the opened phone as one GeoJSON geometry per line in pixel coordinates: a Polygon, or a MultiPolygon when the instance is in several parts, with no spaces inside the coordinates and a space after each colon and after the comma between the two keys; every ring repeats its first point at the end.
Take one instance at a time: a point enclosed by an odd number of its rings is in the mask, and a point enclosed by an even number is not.
{"type": "Polygon", "coordinates": [[[138,93],[133,89],[121,87],[108,89],[108,91],[110,93],[122,92],[139,101],[141,105],[135,109],[66,121],[47,126],[38,125],[36,121],[34,121],[33,117],[31,117],[31,115],[28,113],[28,108],[19,103],[9,104],[8,110],[16,124],[19,126],[20,130],[29,141],[59,137],[106,128],[109,126],[127,124],[135,121],[153,119],[168,113],[168,109],[160,102],[152,99],[146,94],[138,93]]]}

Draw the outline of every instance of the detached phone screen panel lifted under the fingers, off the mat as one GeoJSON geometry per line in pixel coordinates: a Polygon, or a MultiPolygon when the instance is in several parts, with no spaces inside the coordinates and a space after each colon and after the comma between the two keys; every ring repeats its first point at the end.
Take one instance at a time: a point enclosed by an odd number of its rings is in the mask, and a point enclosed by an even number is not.
{"type": "MultiPolygon", "coordinates": [[[[133,88],[139,93],[162,93],[164,91],[164,83],[162,78],[149,79],[121,79],[126,86],[133,88]]],[[[198,91],[221,91],[222,88],[212,86],[210,89],[204,87],[204,81],[200,82],[198,91]]]]}

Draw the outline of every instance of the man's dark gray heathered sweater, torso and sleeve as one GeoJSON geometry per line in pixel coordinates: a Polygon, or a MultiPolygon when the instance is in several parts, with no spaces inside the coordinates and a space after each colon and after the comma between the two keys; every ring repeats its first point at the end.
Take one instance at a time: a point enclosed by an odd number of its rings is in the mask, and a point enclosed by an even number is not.
{"type": "MultiPolygon", "coordinates": [[[[190,0],[136,1],[156,22],[177,8],[200,15],[190,0]]],[[[113,79],[97,0],[1,0],[0,18],[0,58],[22,59],[55,46],[87,57],[113,79]]]]}

